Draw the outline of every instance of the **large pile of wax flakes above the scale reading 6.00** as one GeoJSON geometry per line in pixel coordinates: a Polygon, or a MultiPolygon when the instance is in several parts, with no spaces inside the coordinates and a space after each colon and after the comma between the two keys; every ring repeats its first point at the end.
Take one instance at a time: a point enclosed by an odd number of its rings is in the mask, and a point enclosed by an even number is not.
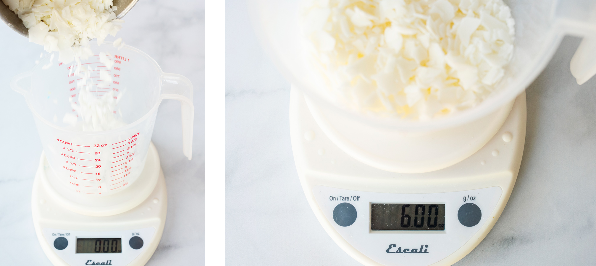
{"type": "Polygon", "coordinates": [[[305,1],[311,62],[358,111],[428,120],[474,107],[513,56],[502,0],[305,1]]]}

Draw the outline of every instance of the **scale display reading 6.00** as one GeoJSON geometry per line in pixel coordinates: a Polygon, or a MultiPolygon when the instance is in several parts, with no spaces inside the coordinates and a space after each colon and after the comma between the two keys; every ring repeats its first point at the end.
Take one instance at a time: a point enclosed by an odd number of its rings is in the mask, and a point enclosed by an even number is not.
{"type": "Polygon", "coordinates": [[[445,204],[371,204],[372,230],[445,230],[445,204]]]}

